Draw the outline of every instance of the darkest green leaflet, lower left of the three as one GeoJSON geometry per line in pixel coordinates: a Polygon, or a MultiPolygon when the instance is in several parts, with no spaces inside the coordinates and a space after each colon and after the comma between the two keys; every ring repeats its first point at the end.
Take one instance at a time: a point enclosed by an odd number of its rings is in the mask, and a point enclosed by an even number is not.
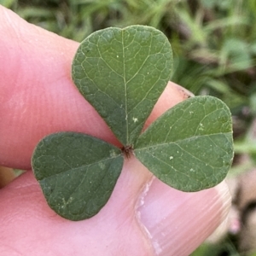
{"type": "Polygon", "coordinates": [[[123,162],[119,148],[73,132],[44,137],[32,156],[49,207],[71,220],[90,218],[102,209],[123,162]]]}

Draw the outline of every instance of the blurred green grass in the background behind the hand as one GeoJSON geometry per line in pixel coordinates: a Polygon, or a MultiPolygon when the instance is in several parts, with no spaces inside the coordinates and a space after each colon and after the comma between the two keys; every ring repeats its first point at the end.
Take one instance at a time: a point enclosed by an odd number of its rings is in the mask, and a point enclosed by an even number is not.
{"type": "MultiPolygon", "coordinates": [[[[232,173],[256,160],[250,125],[256,114],[255,0],[0,0],[25,20],[81,41],[108,26],[142,24],[160,29],[174,53],[172,81],[195,95],[218,96],[234,118],[236,155],[249,154],[232,173]]],[[[238,255],[232,243],[220,245],[238,255]]],[[[219,249],[221,250],[221,249],[219,249]]],[[[203,246],[194,256],[217,255],[203,246]]]]}

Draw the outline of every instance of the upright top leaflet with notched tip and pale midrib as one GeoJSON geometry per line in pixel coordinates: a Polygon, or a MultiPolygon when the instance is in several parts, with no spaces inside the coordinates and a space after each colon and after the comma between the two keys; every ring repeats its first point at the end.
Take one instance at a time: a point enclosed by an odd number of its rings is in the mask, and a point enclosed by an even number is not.
{"type": "Polygon", "coordinates": [[[166,36],[149,26],[92,33],[73,60],[73,81],[123,145],[132,145],[172,71],[166,36]]]}

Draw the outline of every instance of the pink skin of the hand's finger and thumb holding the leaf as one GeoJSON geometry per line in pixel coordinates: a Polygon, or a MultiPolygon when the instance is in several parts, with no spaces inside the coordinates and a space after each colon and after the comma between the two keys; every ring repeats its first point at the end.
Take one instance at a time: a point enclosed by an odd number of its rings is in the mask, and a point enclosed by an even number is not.
{"type": "MultiPolygon", "coordinates": [[[[71,79],[79,44],[0,6],[0,166],[31,169],[32,150],[54,131],[80,131],[119,145],[71,79]]],[[[170,82],[147,125],[188,97],[170,82]]],[[[0,255],[189,255],[226,216],[225,183],[184,193],[125,162],[107,205],[73,222],[56,215],[31,171],[0,190],[0,255]]]]}

